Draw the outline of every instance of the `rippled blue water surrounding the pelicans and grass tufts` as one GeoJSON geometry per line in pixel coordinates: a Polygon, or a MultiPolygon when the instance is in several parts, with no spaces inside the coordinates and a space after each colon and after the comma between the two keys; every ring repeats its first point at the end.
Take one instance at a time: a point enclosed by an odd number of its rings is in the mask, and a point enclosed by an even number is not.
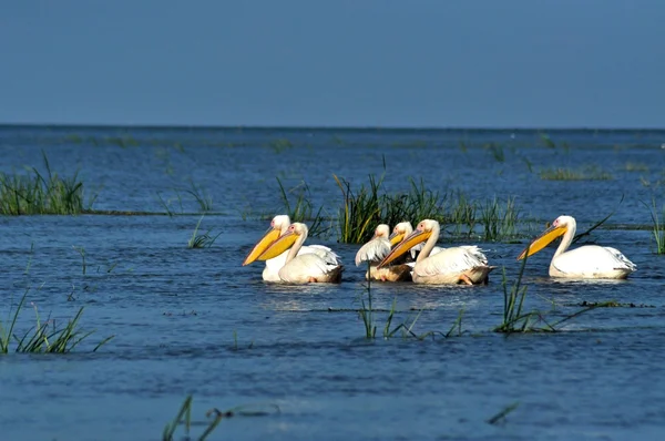
{"type": "MultiPolygon", "coordinates": [[[[99,193],[98,209],[190,213],[0,217],[0,317],[30,286],[21,330],[33,322],[32,305],[57,320],[84,306],[82,328],[98,330],[66,356],[0,357],[2,438],[160,439],[192,393],[197,420],[213,407],[280,409],[225,420],[211,439],[662,439],[665,270],[651,232],[638,227],[651,223],[644,203],[663,201],[665,132],[548,134],[555,148],[529,131],[2,127],[0,171],[43,171],[43,151],[59,174],[79,171],[99,193]],[[391,191],[422,176],[433,191],[514,196],[536,229],[565,213],[583,230],[616,209],[589,239],[621,249],[637,273],[552,280],[548,249],[526,267],[526,307],[553,320],[583,301],[636,307],[596,309],[555,335],[504,338],[491,332],[502,318],[499,270],[489,286],[377,284],[376,308],[397,298],[395,322],[422,310],[417,332],[447,332],[463,309],[463,335],[367,342],[354,310],[364,289],[358,246],[335,234],[308,240],[341,255],[339,286],[264,284],[260,264],[241,266],[268,226],[260,217],[282,213],[276,177],[287,188],[306,182],[315,205],[334,214],[332,174],[360,184],[383,161],[391,191]],[[543,167],[596,167],[613,180],[544,181],[543,167]],[[213,201],[202,228],[222,235],[211,248],[185,247],[200,218],[185,192],[192,182],[213,201]],[[73,247],[85,250],[85,274],[73,247]],[[487,423],[514,402],[505,421],[487,423]]],[[[512,280],[525,243],[478,244],[512,280]]],[[[386,317],[377,312],[377,334],[386,317]]]]}

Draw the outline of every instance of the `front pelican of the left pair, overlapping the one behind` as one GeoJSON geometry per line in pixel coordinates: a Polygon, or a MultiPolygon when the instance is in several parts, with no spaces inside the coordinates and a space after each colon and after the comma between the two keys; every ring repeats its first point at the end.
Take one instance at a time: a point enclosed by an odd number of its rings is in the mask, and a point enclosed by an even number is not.
{"type": "Polygon", "coordinates": [[[316,253],[298,254],[306,239],[307,225],[290,224],[287,232],[275,240],[259,258],[263,260],[270,259],[288,249],[286,264],[277,273],[279,279],[287,284],[338,284],[341,281],[344,266],[338,263],[326,261],[316,253]]]}

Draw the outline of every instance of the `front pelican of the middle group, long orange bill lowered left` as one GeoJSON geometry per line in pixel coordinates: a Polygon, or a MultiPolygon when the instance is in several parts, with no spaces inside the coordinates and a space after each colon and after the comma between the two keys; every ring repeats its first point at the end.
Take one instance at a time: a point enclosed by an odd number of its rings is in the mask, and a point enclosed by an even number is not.
{"type": "Polygon", "coordinates": [[[439,233],[440,227],[437,221],[421,221],[416,230],[395,247],[378,267],[388,265],[407,253],[413,245],[427,240],[413,266],[415,283],[429,285],[487,284],[488,275],[495,267],[488,265],[488,258],[477,246],[443,248],[438,254],[430,255],[439,239],[439,233]]]}

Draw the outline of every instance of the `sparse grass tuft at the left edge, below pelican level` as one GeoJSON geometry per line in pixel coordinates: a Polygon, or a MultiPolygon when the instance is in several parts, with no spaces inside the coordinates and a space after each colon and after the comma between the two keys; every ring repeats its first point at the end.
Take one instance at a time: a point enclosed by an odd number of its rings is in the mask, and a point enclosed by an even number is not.
{"type": "MultiPolygon", "coordinates": [[[[32,305],[35,315],[35,325],[29,329],[22,337],[14,334],[19,314],[23,308],[25,298],[30,288],[21,297],[17,309],[12,314],[11,304],[9,309],[8,325],[3,325],[0,320],[0,353],[8,353],[10,350],[14,352],[50,352],[50,353],[66,353],[71,352],[81,341],[94,334],[94,330],[83,332],[80,329],[79,320],[83,314],[83,307],[79,309],[76,315],[60,326],[55,319],[41,320],[37,305],[32,305]],[[12,348],[12,342],[14,347],[12,348]]],[[[115,336],[110,336],[100,341],[92,351],[96,351],[103,345],[109,342],[115,336]]]]}

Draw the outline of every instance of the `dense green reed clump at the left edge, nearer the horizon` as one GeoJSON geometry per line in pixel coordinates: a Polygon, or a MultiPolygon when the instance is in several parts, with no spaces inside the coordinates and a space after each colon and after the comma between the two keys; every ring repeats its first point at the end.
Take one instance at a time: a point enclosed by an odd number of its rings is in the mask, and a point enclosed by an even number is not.
{"type": "Polygon", "coordinates": [[[28,174],[0,172],[0,214],[80,214],[90,211],[96,195],[85,202],[78,172],[71,177],[60,177],[51,171],[43,152],[42,157],[45,176],[35,167],[28,174]]]}

